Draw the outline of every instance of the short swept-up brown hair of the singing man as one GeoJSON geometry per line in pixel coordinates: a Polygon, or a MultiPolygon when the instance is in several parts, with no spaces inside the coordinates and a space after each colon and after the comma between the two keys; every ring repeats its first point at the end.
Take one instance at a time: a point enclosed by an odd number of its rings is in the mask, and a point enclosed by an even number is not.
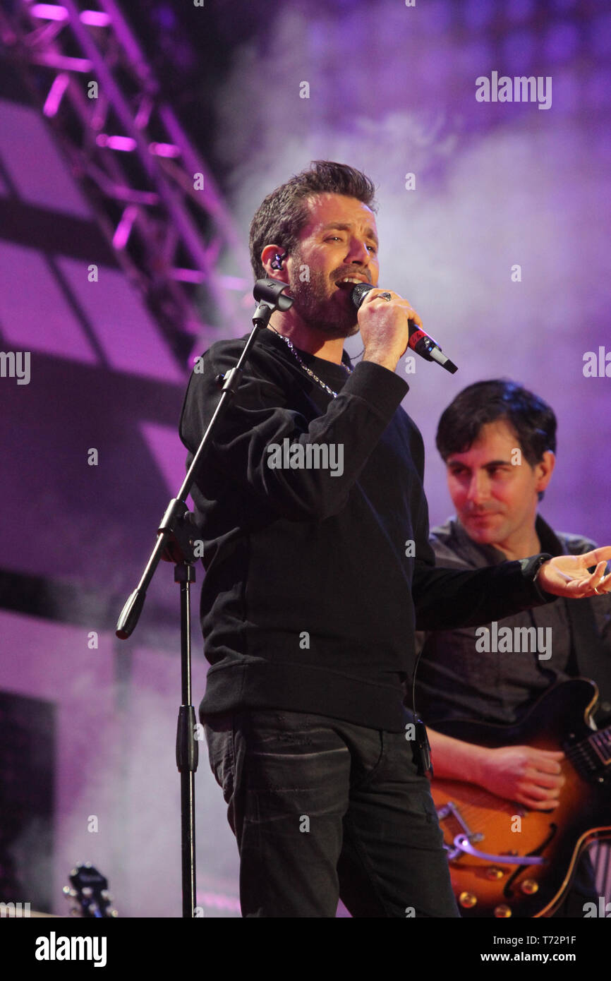
{"type": "Polygon", "coordinates": [[[373,181],[361,171],[332,160],[313,160],[310,170],[294,175],[273,190],[259,205],[250,225],[250,262],[255,280],[267,274],[261,263],[266,245],[276,242],[285,253],[294,250],[299,232],[308,221],[308,199],[322,193],[356,197],[376,211],[373,181]]]}

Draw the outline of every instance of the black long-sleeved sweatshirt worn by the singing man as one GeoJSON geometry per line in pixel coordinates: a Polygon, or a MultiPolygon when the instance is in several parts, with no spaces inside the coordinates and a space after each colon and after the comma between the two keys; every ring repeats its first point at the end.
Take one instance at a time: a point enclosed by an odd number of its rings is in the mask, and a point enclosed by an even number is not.
{"type": "MultiPolygon", "coordinates": [[[[220,398],[216,376],[247,336],[214,343],[191,375],[180,419],[187,464],[220,398]]],[[[191,490],[211,664],[200,718],[283,708],[400,732],[416,627],[489,623],[553,597],[520,562],[435,569],[423,440],[400,406],[407,383],[373,362],[348,375],[299,355],[337,397],[263,329],[191,490]],[[271,444],[293,464],[332,444],[330,465],[273,467],[271,444]]]]}

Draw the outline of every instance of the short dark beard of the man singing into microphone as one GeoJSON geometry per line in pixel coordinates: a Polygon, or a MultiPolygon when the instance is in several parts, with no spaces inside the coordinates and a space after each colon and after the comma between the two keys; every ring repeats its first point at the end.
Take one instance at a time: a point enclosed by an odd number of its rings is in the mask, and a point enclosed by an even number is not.
{"type": "MultiPolygon", "coordinates": [[[[303,268],[299,253],[294,253],[293,269],[303,268]]],[[[345,272],[337,273],[337,278],[345,272]]],[[[298,272],[289,276],[288,294],[294,300],[295,312],[312,331],[326,337],[351,337],[358,334],[356,307],[350,299],[350,291],[335,286],[324,273],[310,270],[309,283],[302,283],[298,272]],[[330,286],[332,292],[330,295],[330,286]]]]}

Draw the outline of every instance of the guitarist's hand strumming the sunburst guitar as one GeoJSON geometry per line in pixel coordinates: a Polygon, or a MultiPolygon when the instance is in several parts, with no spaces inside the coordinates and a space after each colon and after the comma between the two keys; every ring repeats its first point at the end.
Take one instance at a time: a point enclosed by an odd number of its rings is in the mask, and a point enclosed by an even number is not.
{"type": "Polygon", "coordinates": [[[498,797],[517,800],[533,810],[549,810],[558,805],[565,782],[560,768],[563,758],[561,751],[530,746],[484,749],[477,783],[498,797]]]}

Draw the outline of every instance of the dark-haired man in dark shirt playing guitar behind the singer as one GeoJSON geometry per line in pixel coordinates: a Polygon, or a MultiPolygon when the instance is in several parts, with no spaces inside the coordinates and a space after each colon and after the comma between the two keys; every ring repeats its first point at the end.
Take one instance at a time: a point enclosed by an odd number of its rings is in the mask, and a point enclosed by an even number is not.
{"type": "MultiPolygon", "coordinates": [[[[556,418],[532,392],[510,381],[463,389],[441,415],[436,445],[456,508],[456,516],[431,533],[438,565],[474,569],[538,551],[577,554],[595,547],[552,531],[537,514],[554,470],[556,418]]],[[[597,725],[611,721],[611,596],[580,604],[560,598],[498,621],[497,631],[533,626],[547,643],[511,653],[495,652],[494,645],[479,652],[482,631],[475,628],[419,634],[416,701],[429,728],[436,777],[468,780],[531,809],[553,811],[564,783],[562,752],[487,749],[434,731],[435,722],[457,718],[518,722],[550,685],[577,675],[598,686],[597,725]]],[[[555,915],[583,916],[594,895],[585,858],[555,915]]]]}

